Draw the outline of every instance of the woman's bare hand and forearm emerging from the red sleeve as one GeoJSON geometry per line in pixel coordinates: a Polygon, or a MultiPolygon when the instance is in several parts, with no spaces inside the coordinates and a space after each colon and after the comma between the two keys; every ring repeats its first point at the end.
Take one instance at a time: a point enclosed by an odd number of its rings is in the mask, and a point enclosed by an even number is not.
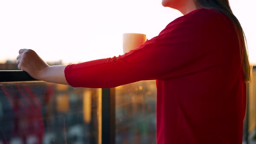
{"type": "Polygon", "coordinates": [[[66,65],[49,66],[31,49],[20,49],[18,68],[28,72],[34,79],[68,85],[64,70],[66,65]]]}

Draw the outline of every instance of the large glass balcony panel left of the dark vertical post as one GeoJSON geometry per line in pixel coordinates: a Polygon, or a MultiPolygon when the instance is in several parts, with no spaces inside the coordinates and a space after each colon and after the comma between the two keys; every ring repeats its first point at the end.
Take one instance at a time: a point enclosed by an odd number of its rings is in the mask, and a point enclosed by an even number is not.
{"type": "Polygon", "coordinates": [[[0,83],[0,144],[101,143],[101,89],[0,83]]]}

